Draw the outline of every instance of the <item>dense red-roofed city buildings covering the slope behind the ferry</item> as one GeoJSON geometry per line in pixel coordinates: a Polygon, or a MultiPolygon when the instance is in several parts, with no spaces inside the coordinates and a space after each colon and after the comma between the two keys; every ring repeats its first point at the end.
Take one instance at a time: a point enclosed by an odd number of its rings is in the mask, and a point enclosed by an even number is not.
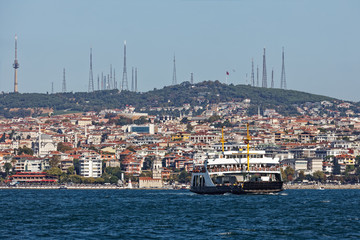
{"type": "MultiPolygon", "coordinates": [[[[2,181],[125,184],[132,180],[145,188],[186,184],[194,165],[221,149],[222,127],[225,148],[242,149],[249,123],[251,148],[280,158],[285,181],[358,182],[358,116],[284,117],[272,109],[246,116],[234,111],[249,101],[213,104],[198,116],[151,116],[128,106],[99,113],[4,118],[0,120],[2,181]]],[[[306,113],[316,112],[315,108],[309,106],[306,113]]]]}

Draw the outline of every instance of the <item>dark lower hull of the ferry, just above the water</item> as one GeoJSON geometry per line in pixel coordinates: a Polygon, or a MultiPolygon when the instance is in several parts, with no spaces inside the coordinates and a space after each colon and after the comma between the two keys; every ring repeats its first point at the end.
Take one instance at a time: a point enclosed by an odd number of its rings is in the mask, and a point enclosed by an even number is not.
{"type": "Polygon", "coordinates": [[[192,186],[190,189],[198,194],[269,194],[283,190],[283,182],[245,182],[243,185],[192,186]]]}

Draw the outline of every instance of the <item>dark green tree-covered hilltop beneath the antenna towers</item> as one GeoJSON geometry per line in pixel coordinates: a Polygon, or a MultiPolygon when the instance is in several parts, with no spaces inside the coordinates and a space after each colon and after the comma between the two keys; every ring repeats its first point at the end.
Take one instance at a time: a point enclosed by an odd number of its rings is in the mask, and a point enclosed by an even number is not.
{"type": "Polygon", "coordinates": [[[255,109],[274,108],[284,115],[298,114],[296,107],[321,101],[340,100],[294,90],[252,87],[250,85],[227,85],[219,81],[204,81],[197,84],[183,82],[178,85],[154,89],[144,93],[131,91],[103,90],[94,92],[67,92],[54,94],[8,93],[0,95],[0,115],[5,117],[41,114],[37,108],[51,108],[54,111],[100,111],[102,109],[134,106],[137,111],[150,111],[155,107],[207,106],[220,102],[241,102],[250,99],[249,114],[255,109]],[[30,111],[29,109],[35,109],[30,111]]]}

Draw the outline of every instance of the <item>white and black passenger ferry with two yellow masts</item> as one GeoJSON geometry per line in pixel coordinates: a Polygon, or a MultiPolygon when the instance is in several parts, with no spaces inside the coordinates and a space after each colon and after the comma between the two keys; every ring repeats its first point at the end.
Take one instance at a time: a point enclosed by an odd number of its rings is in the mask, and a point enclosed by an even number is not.
{"type": "Polygon", "coordinates": [[[247,150],[209,154],[203,165],[194,167],[190,191],[199,194],[268,194],[283,190],[278,158],[265,156],[265,151],[250,151],[249,128],[247,150]]]}

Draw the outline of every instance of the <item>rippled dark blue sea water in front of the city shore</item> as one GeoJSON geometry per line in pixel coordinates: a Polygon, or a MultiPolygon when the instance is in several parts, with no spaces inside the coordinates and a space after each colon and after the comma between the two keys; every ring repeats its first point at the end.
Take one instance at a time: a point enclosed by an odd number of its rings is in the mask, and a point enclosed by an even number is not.
{"type": "Polygon", "coordinates": [[[360,190],[0,190],[1,239],[360,239],[360,190]]]}

